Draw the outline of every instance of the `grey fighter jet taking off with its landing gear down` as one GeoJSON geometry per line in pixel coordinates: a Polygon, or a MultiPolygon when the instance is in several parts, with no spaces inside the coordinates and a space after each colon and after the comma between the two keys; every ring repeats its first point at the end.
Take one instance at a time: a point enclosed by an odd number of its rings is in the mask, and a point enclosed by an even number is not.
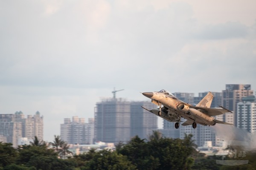
{"type": "Polygon", "coordinates": [[[216,123],[233,125],[216,120],[213,117],[227,112],[232,113],[232,111],[222,106],[219,106],[220,108],[210,108],[213,99],[213,94],[211,92],[208,92],[208,94],[196,106],[181,101],[166,90],[145,92],[142,94],[150,98],[151,102],[158,105],[159,108],[148,110],[143,106],[141,107],[163,119],[168,120],[169,122],[176,122],[176,129],[180,126],[181,118],[186,119],[186,122],[183,122],[182,124],[183,126],[192,125],[193,128],[196,128],[197,124],[204,126],[214,126],[216,123]]]}

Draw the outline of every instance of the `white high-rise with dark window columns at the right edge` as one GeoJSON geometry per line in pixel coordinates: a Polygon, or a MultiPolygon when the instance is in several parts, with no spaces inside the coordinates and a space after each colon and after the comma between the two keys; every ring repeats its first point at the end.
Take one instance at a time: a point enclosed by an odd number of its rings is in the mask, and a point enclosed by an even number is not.
{"type": "Polygon", "coordinates": [[[255,96],[242,98],[242,102],[237,103],[236,125],[250,133],[256,132],[256,100],[255,96]]]}

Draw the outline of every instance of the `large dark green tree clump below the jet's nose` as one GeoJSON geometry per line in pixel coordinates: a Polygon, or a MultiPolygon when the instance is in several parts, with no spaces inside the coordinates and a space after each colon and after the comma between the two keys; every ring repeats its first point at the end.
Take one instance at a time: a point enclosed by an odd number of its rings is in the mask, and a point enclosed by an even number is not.
{"type": "Polygon", "coordinates": [[[186,170],[193,164],[190,155],[195,149],[191,139],[192,136],[184,140],[162,138],[155,131],[149,142],[135,136],[117,152],[127,156],[139,170],[186,170]]]}

